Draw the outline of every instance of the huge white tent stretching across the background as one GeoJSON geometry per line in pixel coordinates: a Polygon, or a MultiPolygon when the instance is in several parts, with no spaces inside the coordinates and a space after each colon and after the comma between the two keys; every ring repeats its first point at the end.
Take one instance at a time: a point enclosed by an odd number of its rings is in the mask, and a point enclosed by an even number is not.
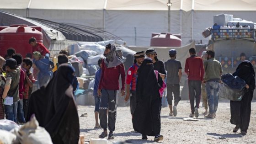
{"type": "MultiPolygon", "coordinates": [[[[0,0],[0,10],[21,16],[96,27],[128,45],[149,46],[152,32],[167,32],[168,0],[0,0]],[[135,39],[137,40],[135,43],[135,39]]],[[[202,32],[213,16],[233,14],[255,21],[256,0],[171,0],[171,33],[182,45],[207,43],[202,32]]]]}

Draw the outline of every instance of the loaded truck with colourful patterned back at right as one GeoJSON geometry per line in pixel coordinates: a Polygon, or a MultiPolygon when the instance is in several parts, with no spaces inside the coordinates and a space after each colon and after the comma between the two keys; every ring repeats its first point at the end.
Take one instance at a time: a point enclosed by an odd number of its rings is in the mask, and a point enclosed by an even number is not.
{"type": "Polygon", "coordinates": [[[222,64],[223,74],[235,72],[242,62],[241,55],[245,55],[245,59],[250,61],[256,70],[256,23],[245,20],[227,22],[226,26],[214,23],[213,28],[207,28],[202,33],[204,37],[207,31],[211,36],[207,49],[214,50],[215,59],[222,64]]]}

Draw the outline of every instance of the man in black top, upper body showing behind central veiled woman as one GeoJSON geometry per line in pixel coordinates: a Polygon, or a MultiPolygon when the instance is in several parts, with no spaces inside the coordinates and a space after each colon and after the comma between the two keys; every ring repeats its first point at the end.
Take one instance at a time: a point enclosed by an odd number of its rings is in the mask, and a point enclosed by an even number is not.
{"type": "Polygon", "coordinates": [[[157,70],[161,78],[164,79],[166,76],[165,64],[163,61],[157,59],[157,53],[155,51],[155,48],[147,49],[146,55],[148,58],[151,58],[153,60],[154,70],[157,70]]]}

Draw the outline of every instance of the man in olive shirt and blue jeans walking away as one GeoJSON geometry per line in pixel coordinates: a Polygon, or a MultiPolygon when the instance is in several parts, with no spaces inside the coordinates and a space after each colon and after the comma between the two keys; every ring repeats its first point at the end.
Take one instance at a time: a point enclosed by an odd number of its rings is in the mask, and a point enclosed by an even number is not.
{"type": "Polygon", "coordinates": [[[206,118],[215,118],[219,104],[219,87],[221,83],[222,66],[220,62],[214,59],[213,50],[208,50],[207,61],[203,63],[205,68],[205,89],[208,98],[209,114],[206,118]]]}

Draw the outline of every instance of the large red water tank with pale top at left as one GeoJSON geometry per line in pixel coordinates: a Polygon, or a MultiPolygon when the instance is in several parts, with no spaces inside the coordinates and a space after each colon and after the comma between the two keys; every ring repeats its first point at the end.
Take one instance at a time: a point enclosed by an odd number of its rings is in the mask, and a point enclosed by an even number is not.
{"type": "Polygon", "coordinates": [[[32,53],[32,46],[28,43],[31,37],[43,43],[41,27],[28,27],[27,25],[0,27],[0,55],[5,57],[7,49],[14,48],[16,53],[21,53],[25,58],[27,53],[32,53]]]}

